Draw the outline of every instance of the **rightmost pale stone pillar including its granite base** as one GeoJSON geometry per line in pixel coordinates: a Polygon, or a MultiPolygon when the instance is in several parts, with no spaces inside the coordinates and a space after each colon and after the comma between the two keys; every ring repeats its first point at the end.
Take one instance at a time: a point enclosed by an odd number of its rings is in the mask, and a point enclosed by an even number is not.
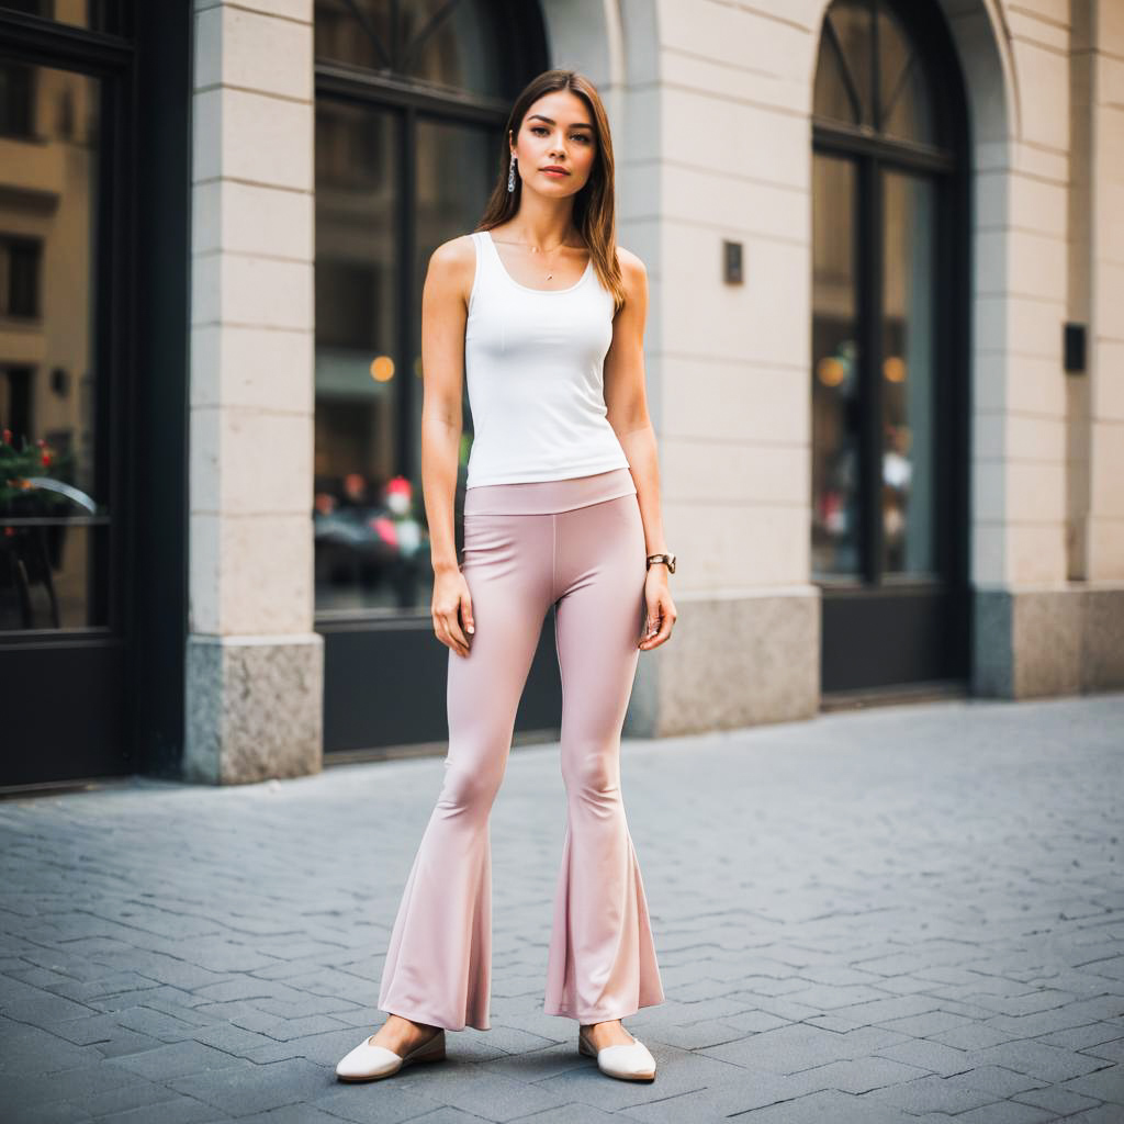
{"type": "MultiPolygon", "coordinates": [[[[977,91],[972,687],[1016,697],[1073,690],[1079,638],[1067,584],[1062,364],[1069,33],[1031,12],[1008,15],[1015,81],[1001,120],[979,97],[980,75],[969,74],[977,91]]],[[[982,35],[984,17],[973,19],[982,35]]],[[[960,43],[962,51],[971,43],[967,27],[960,43]]],[[[964,58],[970,69],[982,53],[964,58]]]]}

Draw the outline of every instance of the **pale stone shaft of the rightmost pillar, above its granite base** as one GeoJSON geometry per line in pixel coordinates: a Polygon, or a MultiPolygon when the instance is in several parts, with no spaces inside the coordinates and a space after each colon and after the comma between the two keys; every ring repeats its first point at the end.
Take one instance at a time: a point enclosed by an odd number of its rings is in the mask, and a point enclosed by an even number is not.
{"type": "MultiPolygon", "coordinates": [[[[976,145],[972,580],[1066,579],[1068,4],[1003,6],[1006,136],[976,145]]],[[[972,62],[969,58],[969,64],[972,62]]],[[[981,75],[972,75],[979,81],[981,75]]]]}

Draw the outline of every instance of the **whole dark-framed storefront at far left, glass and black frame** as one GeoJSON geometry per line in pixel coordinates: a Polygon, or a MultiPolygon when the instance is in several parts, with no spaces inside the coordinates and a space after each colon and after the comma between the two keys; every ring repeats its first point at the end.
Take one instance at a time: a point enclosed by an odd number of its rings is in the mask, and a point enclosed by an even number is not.
{"type": "Polygon", "coordinates": [[[182,744],[190,43],[0,0],[0,786],[182,744]]]}

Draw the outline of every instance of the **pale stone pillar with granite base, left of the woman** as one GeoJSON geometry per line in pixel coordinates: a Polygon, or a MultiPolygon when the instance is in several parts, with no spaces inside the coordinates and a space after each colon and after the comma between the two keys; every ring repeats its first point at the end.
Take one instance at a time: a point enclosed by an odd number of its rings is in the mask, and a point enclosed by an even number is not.
{"type": "Polygon", "coordinates": [[[312,0],[197,0],[194,35],[183,773],[237,783],[323,762],[312,0]]]}

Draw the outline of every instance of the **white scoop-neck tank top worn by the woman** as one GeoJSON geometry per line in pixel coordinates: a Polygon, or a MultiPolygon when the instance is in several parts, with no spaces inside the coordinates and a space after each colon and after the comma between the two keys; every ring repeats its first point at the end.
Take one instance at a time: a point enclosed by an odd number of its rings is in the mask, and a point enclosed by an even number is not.
{"type": "Polygon", "coordinates": [[[627,469],[605,405],[613,294],[592,260],[568,289],[531,289],[507,272],[488,230],[472,241],[464,374],[474,434],[465,488],[627,469]]]}

